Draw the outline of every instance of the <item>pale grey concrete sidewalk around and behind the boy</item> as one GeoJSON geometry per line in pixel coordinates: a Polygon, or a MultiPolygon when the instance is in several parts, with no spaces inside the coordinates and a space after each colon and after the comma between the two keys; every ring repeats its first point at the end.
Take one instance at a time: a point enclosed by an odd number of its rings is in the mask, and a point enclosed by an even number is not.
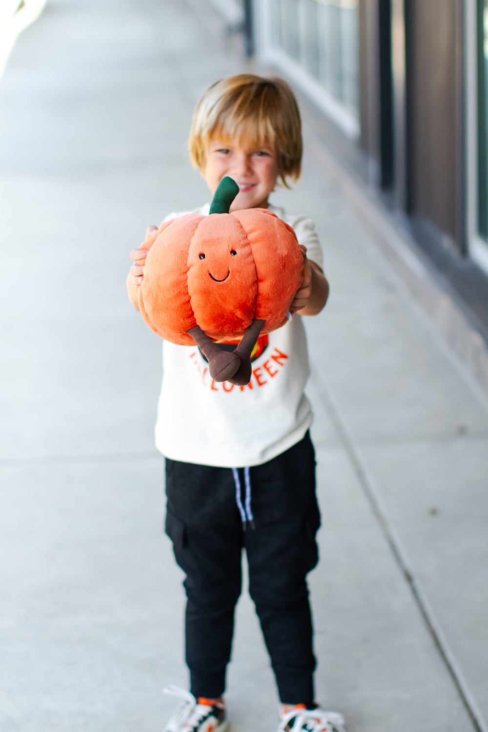
{"type": "MultiPolygon", "coordinates": [[[[207,200],[192,108],[244,67],[198,7],[48,1],[0,79],[2,732],[156,732],[162,687],[187,683],[152,435],[160,343],[125,277],[147,225],[207,200]]],[[[274,202],[315,219],[331,281],[307,320],[318,698],[348,732],[484,729],[486,405],[311,146],[274,202]]],[[[274,730],[246,594],[233,659],[233,730],[274,730]]]]}

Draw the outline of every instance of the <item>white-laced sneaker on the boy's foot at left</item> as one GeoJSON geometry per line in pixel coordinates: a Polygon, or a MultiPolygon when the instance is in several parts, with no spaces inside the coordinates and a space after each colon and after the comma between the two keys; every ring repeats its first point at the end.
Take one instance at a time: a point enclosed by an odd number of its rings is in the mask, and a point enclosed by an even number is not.
{"type": "Polygon", "coordinates": [[[170,686],[165,694],[178,696],[181,702],[171,714],[164,732],[225,732],[225,707],[222,704],[198,703],[189,691],[170,686]]]}

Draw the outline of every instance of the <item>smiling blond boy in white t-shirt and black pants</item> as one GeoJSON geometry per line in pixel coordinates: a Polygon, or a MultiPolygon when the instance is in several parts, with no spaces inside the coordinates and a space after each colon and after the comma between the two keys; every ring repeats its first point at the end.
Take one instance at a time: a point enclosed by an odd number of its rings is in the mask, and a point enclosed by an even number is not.
{"type": "MultiPolygon", "coordinates": [[[[290,308],[295,314],[259,338],[247,386],[211,381],[197,347],[163,343],[156,444],[166,458],[166,532],[187,575],[191,684],[191,693],[176,690],[183,701],[165,731],[227,728],[222,695],[244,548],[249,594],[277,680],[279,731],[342,732],[339,715],[314,701],[306,580],[318,561],[320,515],[301,315],[320,313],[329,285],[312,222],[286,216],[269,203],[278,179],[287,185],[301,172],[301,122],[293,91],[279,78],[242,74],[218,81],[195,108],[189,152],[212,194],[224,176],[239,184],[231,211],[270,209],[290,224],[305,264],[290,308]]],[[[196,212],[208,214],[209,204],[196,212]]],[[[154,229],[149,227],[147,236],[154,229]]],[[[146,254],[131,253],[136,264],[127,289],[136,310],[146,254]]]]}

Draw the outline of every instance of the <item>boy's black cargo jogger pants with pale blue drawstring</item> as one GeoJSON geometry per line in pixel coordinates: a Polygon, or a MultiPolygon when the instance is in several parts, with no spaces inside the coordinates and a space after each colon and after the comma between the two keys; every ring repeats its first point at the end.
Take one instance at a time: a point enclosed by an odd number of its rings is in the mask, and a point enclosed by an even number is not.
{"type": "Polygon", "coordinates": [[[306,575],[318,561],[320,525],[309,433],[246,471],[166,460],[166,533],[187,575],[191,691],[219,698],[225,690],[244,548],[279,698],[308,705],[315,657],[306,575]]]}

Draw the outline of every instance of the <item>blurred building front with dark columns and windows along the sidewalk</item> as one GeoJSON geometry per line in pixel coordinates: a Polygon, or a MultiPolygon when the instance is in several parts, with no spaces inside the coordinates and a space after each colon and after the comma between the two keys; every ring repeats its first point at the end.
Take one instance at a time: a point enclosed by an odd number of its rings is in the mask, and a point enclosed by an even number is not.
{"type": "Polygon", "coordinates": [[[252,15],[260,61],[366,159],[486,338],[488,0],[255,0],[252,15]]]}

